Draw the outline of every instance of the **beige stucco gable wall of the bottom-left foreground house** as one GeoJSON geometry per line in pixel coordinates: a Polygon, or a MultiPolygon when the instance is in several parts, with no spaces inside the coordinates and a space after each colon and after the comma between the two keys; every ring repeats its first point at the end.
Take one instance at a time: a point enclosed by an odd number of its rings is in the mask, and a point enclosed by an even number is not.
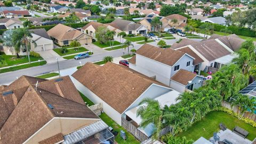
{"type": "Polygon", "coordinates": [[[58,118],[54,117],[41,130],[37,131],[35,135],[30,137],[24,143],[35,144],[39,141],[52,137],[55,134],[62,133],[69,134],[73,131],[81,129],[82,127],[99,121],[99,119],[79,119],[79,118],[58,118]]]}

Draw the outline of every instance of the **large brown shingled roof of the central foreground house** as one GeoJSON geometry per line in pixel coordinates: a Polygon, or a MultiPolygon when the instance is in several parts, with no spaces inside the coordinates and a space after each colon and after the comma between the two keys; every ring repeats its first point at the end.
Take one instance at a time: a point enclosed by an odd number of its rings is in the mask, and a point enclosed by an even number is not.
{"type": "Polygon", "coordinates": [[[163,85],[137,71],[111,62],[104,66],[87,62],[72,76],[120,114],[151,84],[163,85]]]}

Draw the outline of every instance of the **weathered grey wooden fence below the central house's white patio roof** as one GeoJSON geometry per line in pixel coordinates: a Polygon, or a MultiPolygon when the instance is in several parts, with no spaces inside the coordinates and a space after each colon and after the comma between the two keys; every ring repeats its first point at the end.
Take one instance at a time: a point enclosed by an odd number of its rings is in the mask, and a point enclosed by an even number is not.
{"type": "Polygon", "coordinates": [[[130,132],[136,139],[140,142],[145,141],[148,139],[147,135],[142,133],[140,130],[137,129],[132,123],[128,122],[125,118],[122,117],[122,126],[128,132],[130,132]]]}

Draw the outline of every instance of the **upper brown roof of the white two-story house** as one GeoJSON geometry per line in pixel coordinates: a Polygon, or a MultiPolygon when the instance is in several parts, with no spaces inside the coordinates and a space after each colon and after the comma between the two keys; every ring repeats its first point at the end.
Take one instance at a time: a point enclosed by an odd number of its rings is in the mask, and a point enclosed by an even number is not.
{"type": "Polygon", "coordinates": [[[153,45],[144,44],[136,54],[164,63],[165,65],[173,66],[185,54],[185,52],[173,49],[162,49],[153,45]]]}

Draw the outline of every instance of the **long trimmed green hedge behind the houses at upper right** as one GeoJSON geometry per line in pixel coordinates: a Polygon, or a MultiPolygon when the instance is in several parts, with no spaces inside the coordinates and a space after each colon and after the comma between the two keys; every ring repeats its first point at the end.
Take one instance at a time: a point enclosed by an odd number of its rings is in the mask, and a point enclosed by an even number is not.
{"type": "MultiPolygon", "coordinates": [[[[197,20],[189,20],[188,22],[195,22],[197,24],[197,28],[199,28],[204,23],[204,22],[197,21],[197,20]]],[[[226,28],[226,26],[218,25],[215,23],[211,23],[211,25],[214,27],[214,31],[220,31],[221,29],[226,28]]],[[[256,31],[251,30],[249,28],[229,26],[228,29],[231,30],[233,32],[233,34],[236,34],[236,35],[256,37],[256,31]]]]}

